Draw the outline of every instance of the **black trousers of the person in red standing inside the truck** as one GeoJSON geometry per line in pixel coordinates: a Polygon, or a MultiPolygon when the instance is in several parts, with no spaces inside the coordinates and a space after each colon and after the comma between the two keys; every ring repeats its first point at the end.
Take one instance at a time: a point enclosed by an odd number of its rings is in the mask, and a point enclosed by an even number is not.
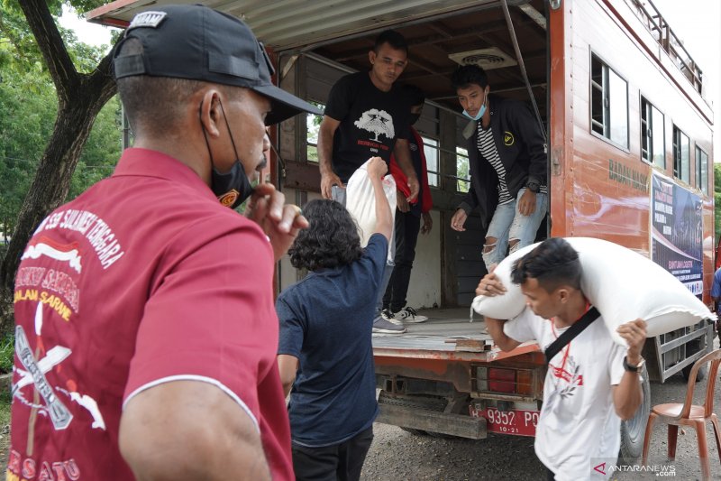
{"type": "Polygon", "coordinates": [[[418,242],[418,232],[421,230],[421,217],[415,217],[411,212],[401,212],[396,209],[396,266],[388,282],[388,288],[383,295],[383,309],[397,312],[406,307],[406,294],[408,284],[411,282],[411,269],[415,260],[415,243],[418,242]]]}

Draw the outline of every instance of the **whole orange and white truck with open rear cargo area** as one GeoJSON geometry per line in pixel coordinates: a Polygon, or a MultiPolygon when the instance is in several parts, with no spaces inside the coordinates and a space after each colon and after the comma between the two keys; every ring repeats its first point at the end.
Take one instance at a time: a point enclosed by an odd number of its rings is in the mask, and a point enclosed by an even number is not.
{"type": "MultiPolygon", "coordinates": [[[[87,14],[126,26],[168,0],[118,0],[87,14]]],[[[652,0],[316,0],[206,5],[241,16],[276,62],[281,88],[323,105],[342,75],[369,68],[387,28],[408,41],[401,82],[426,93],[421,119],[434,199],[434,230],[416,248],[408,302],[430,320],[401,336],[374,337],[379,421],[416,433],[482,439],[534,436],[545,364],[537,345],[503,353],[468,306],[485,274],[478,217],[450,219],[468,190],[468,157],[450,76],[459,64],[488,72],[491,93],[534,106],[547,133],[550,208],[544,236],[607,239],[653,259],[711,306],[714,273],[713,113],[698,64],[652,0]]],[[[320,197],[318,118],[271,132],[278,151],[266,178],[303,205],[320,197]]],[[[613,263],[613,259],[609,259],[613,263]]],[[[287,260],[278,289],[297,281],[287,260]]],[[[653,295],[653,286],[647,286],[653,295]]],[[[712,346],[697,326],[649,338],[643,409],[622,428],[637,457],[649,410],[649,378],[686,373],[712,346]]]]}

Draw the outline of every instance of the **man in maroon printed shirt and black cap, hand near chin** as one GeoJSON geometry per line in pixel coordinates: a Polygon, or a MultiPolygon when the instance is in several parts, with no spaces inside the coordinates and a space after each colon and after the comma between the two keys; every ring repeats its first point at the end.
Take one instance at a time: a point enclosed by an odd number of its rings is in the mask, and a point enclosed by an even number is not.
{"type": "Polygon", "coordinates": [[[15,281],[8,479],[293,478],[272,277],[307,222],[249,177],[265,126],[315,108],[270,69],[203,6],[124,33],[134,148],[42,221],[15,281]]]}

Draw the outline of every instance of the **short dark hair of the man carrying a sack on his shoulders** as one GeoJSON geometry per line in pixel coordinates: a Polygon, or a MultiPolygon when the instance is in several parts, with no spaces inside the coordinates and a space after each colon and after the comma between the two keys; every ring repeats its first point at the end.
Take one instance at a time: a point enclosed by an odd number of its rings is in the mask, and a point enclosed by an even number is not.
{"type": "Polygon", "coordinates": [[[522,284],[526,279],[533,278],[550,293],[561,285],[580,289],[582,272],[576,249],[561,237],[549,237],[516,261],[511,281],[522,284]]]}

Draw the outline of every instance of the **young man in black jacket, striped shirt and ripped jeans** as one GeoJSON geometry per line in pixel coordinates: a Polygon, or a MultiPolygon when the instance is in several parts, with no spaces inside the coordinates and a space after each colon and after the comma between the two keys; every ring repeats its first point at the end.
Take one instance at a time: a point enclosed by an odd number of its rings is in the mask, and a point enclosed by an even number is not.
{"type": "Polygon", "coordinates": [[[541,127],[522,102],[489,97],[477,65],[459,67],[452,85],[463,115],[477,125],[468,139],[470,189],[451,219],[463,231],[474,208],[486,230],[483,261],[490,271],[510,252],[534,242],[548,207],[548,157],[541,127]]]}

